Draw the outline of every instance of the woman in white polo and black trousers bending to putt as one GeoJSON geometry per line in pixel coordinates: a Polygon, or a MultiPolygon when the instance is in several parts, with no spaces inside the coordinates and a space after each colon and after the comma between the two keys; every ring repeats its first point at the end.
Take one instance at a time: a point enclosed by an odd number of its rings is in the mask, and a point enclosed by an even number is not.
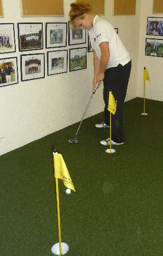
{"type": "MultiPolygon", "coordinates": [[[[97,15],[90,14],[90,5],[72,3],[69,12],[70,23],[74,28],[87,29],[94,55],[93,90],[103,80],[103,99],[105,103],[104,121],[96,124],[97,128],[109,127],[110,113],[107,110],[108,95],[112,91],[117,102],[117,110],[112,115],[112,144],[124,143],[123,135],[123,104],[131,71],[131,57],[125,49],[114,27],[97,15]]],[[[100,141],[101,145],[109,146],[110,138],[100,141]]]]}

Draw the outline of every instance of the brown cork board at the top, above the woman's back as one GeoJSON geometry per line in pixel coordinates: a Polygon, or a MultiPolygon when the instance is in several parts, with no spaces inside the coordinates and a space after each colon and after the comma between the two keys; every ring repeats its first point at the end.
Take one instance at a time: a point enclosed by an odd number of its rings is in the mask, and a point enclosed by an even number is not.
{"type": "Polygon", "coordinates": [[[135,15],[136,0],[114,0],[114,15],[135,15]]]}

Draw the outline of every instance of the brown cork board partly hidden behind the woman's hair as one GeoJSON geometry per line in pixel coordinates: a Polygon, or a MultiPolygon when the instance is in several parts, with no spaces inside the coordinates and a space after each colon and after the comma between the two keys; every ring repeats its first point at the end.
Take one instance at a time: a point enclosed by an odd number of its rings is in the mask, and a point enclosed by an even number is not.
{"type": "MultiPolygon", "coordinates": [[[[81,2],[81,0],[76,0],[81,2]]],[[[104,0],[83,0],[82,2],[90,4],[92,15],[104,15],[105,14],[105,1],[104,0]]]]}

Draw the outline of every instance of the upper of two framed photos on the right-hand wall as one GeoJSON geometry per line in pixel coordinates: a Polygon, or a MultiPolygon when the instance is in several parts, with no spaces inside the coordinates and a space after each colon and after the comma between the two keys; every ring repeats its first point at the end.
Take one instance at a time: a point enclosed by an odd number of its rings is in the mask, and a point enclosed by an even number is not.
{"type": "Polygon", "coordinates": [[[148,17],[147,35],[163,36],[163,18],[148,17]]]}

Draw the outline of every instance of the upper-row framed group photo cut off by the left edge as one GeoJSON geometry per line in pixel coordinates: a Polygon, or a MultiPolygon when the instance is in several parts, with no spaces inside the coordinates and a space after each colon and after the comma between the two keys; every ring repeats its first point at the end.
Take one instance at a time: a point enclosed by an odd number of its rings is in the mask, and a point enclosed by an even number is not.
{"type": "Polygon", "coordinates": [[[0,23],[0,53],[16,52],[13,23],[0,23]]]}

